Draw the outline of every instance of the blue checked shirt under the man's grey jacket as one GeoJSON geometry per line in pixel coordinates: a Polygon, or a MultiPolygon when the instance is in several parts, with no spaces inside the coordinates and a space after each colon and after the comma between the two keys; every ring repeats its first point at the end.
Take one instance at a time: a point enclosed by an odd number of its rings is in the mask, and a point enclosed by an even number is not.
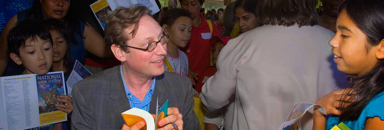
{"type": "Polygon", "coordinates": [[[120,73],[121,73],[121,78],[123,79],[125,94],[127,95],[127,98],[128,98],[128,101],[129,101],[129,105],[131,106],[131,108],[138,108],[138,109],[141,109],[141,110],[149,112],[149,106],[151,104],[153,91],[155,89],[156,76],[154,76],[152,78],[151,88],[145,94],[145,97],[144,97],[143,101],[140,101],[137,97],[135,97],[135,95],[133,95],[129,91],[128,86],[125,83],[125,79],[124,79],[123,70],[121,68],[121,65],[120,65],[120,73]]]}

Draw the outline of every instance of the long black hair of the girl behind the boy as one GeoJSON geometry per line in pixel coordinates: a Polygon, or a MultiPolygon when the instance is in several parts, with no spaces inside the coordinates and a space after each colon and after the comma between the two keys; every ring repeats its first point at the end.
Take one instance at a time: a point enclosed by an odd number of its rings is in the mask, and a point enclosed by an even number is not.
{"type": "Polygon", "coordinates": [[[70,60],[69,43],[68,43],[69,42],[69,40],[68,40],[69,36],[67,33],[67,29],[65,28],[65,25],[62,22],[60,22],[59,20],[54,19],[54,18],[44,20],[42,23],[46,26],[46,28],[49,31],[58,31],[63,36],[63,38],[65,39],[66,44],[67,44],[67,48],[66,48],[65,56],[63,58],[63,62],[64,62],[64,65],[67,69],[71,68],[73,61],[70,60]]]}

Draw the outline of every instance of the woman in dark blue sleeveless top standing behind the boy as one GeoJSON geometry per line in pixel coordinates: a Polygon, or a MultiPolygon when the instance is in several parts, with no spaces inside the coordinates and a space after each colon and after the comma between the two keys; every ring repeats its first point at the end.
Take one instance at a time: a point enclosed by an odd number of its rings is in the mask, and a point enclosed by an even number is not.
{"type": "Polygon", "coordinates": [[[103,37],[77,16],[74,6],[70,6],[70,3],[70,0],[35,0],[30,9],[21,11],[9,19],[0,35],[0,75],[3,74],[8,63],[6,36],[17,22],[24,19],[43,21],[55,18],[63,22],[68,28],[72,61],[83,62],[86,51],[100,58],[111,56],[110,49],[106,47],[103,37]]]}

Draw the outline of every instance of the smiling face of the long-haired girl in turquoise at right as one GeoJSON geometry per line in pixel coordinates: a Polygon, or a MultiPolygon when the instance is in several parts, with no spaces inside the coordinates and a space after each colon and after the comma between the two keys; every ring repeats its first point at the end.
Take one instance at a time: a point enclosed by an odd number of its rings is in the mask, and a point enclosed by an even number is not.
{"type": "Polygon", "coordinates": [[[336,22],[337,32],[329,41],[333,47],[337,69],[347,74],[361,75],[371,70],[378,62],[377,49],[369,45],[367,36],[354,24],[345,10],[336,22]]]}

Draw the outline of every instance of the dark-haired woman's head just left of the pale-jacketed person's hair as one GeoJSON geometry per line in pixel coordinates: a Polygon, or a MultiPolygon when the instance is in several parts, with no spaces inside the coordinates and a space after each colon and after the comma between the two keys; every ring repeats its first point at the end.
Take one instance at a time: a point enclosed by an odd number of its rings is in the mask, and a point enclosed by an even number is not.
{"type": "Polygon", "coordinates": [[[235,3],[235,20],[239,23],[240,33],[260,26],[256,18],[256,6],[259,0],[237,0],[235,3]]]}

